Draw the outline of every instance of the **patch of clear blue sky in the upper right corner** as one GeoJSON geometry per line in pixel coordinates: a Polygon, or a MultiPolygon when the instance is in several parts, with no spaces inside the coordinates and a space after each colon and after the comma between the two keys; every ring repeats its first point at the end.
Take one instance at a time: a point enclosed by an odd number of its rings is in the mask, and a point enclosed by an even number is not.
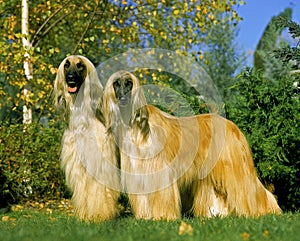
{"type": "Polygon", "coordinates": [[[246,0],[246,4],[237,9],[243,18],[237,42],[249,55],[248,64],[252,65],[253,51],[268,22],[286,7],[293,9],[292,20],[300,24],[300,0],[246,0]]]}

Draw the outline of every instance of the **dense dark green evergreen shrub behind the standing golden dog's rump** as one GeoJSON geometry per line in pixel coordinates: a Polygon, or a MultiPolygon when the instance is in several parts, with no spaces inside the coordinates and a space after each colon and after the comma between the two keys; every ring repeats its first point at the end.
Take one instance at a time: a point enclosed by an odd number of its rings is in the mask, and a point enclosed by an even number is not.
{"type": "Polygon", "coordinates": [[[229,118],[246,133],[260,177],[275,186],[281,207],[300,207],[300,101],[295,79],[285,71],[274,82],[248,70],[229,118]]]}

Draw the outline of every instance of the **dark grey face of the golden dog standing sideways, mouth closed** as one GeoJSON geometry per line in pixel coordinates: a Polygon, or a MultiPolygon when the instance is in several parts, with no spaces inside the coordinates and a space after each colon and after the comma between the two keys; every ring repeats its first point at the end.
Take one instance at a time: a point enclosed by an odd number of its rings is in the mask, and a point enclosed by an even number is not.
{"type": "Polygon", "coordinates": [[[133,87],[131,78],[129,76],[123,76],[115,79],[113,87],[119,106],[128,105],[131,102],[131,91],[133,87]]]}

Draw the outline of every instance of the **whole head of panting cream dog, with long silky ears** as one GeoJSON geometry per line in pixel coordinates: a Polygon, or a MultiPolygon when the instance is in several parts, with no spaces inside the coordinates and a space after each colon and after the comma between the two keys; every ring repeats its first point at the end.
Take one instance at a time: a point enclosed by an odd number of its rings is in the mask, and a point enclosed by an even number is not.
{"type": "Polygon", "coordinates": [[[81,55],[66,57],[59,65],[54,81],[54,104],[68,121],[72,107],[85,115],[96,115],[104,123],[101,111],[103,87],[93,63],[81,55]]]}

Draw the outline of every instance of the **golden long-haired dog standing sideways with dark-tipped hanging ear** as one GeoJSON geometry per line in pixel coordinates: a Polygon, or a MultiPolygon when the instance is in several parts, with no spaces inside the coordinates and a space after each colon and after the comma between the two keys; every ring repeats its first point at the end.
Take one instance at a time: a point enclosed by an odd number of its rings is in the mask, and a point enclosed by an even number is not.
{"type": "Polygon", "coordinates": [[[127,71],[108,79],[103,105],[136,218],[281,213],[231,121],[216,114],[177,118],[146,105],[138,79],[127,71]]]}

